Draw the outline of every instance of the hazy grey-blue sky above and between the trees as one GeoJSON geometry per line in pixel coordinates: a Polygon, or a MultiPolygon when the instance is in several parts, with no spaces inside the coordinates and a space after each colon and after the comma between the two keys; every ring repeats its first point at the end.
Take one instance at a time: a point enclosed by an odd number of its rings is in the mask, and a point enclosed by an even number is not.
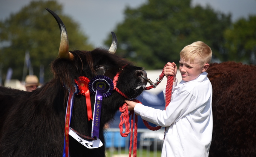
{"type": "MultiPolygon", "coordinates": [[[[18,12],[31,0],[0,0],[0,20],[10,13],[18,12]]],[[[146,0],[57,0],[64,6],[64,13],[81,25],[94,46],[103,46],[103,41],[116,25],[123,21],[126,6],[138,7],[146,0]]],[[[235,21],[248,15],[256,15],[256,0],[192,0],[192,4],[210,5],[222,13],[231,13],[235,21]]],[[[50,9],[51,7],[49,7],[50,9]]]]}

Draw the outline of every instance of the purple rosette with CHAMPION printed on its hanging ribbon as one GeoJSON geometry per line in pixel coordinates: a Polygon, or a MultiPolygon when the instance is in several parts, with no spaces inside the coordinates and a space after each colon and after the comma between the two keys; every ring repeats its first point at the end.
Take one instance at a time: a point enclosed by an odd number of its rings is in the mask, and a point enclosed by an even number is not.
{"type": "Polygon", "coordinates": [[[90,93],[95,95],[94,114],[92,120],[92,137],[99,138],[100,131],[100,115],[102,98],[108,97],[113,91],[113,81],[107,76],[98,75],[89,82],[90,93]]]}

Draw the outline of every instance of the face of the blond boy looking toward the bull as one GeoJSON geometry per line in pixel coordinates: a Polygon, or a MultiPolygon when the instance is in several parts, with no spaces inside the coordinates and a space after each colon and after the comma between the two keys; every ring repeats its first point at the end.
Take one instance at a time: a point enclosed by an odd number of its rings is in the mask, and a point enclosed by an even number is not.
{"type": "Polygon", "coordinates": [[[202,72],[205,72],[209,67],[209,64],[200,64],[199,61],[185,61],[182,58],[179,60],[179,71],[181,72],[181,78],[183,81],[191,81],[197,78],[202,72]]]}

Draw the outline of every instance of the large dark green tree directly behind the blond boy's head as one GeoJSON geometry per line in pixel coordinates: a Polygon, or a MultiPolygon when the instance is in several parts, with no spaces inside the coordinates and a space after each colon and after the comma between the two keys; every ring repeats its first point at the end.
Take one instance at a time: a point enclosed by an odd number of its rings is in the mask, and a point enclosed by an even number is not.
{"type": "MultiPolygon", "coordinates": [[[[168,61],[178,63],[184,46],[203,41],[217,58],[230,16],[210,6],[192,7],[191,0],[148,0],[136,9],[126,8],[125,19],[115,32],[117,54],[146,69],[162,69],[168,61]]],[[[105,43],[110,43],[111,37],[105,43]]]]}

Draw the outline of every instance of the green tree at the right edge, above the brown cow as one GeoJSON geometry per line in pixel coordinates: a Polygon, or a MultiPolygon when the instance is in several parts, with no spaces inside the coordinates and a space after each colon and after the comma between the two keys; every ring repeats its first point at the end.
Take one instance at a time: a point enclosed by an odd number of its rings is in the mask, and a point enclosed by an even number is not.
{"type": "Polygon", "coordinates": [[[241,18],[224,33],[225,48],[222,61],[256,64],[256,16],[241,18]]]}

